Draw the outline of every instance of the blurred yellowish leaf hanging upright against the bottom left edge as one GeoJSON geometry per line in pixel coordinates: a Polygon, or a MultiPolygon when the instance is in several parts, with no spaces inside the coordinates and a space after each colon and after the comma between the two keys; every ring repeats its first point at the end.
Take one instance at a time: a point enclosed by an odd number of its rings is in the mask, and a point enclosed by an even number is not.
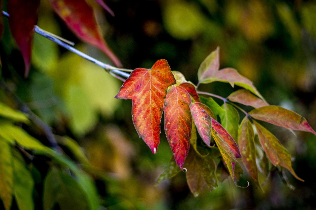
{"type": "Polygon", "coordinates": [[[0,137],[0,198],[6,210],[10,209],[12,203],[13,177],[11,147],[0,137]]]}

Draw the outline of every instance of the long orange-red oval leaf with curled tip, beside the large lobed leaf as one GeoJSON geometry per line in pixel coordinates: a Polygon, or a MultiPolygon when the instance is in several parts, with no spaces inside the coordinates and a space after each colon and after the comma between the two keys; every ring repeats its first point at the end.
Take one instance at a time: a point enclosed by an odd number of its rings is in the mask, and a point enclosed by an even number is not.
{"type": "Polygon", "coordinates": [[[165,133],[174,159],[181,169],[190,148],[192,128],[190,104],[191,97],[184,88],[172,86],[168,89],[163,107],[165,133]]]}

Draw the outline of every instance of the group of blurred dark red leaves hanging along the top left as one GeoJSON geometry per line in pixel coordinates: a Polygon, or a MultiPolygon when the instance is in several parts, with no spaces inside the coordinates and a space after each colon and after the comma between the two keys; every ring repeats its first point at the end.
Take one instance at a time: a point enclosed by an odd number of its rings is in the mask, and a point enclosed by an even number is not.
{"type": "MultiPolygon", "coordinates": [[[[110,14],[113,11],[102,1],[95,0],[110,14]]],[[[64,21],[67,27],[83,42],[91,44],[104,52],[116,66],[122,66],[119,59],[113,54],[104,41],[100,27],[94,17],[94,8],[85,0],[49,0],[52,8],[64,21]]],[[[0,9],[3,2],[0,1],[0,9]]],[[[8,1],[7,9],[9,13],[9,26],[21,54],[25,65],[25,77],[30,70],[32,54],[32,42],[34,37],[34,26],[37,24],[37,10],[40,0],[8,1]],[[27,8],[27,9],[25,9],[27,8]]],[[[2,9],[1,9],[2,10],[2,9]]],[[[3,16],[0,17],[0,38],[3,32],[3,16]]]]}

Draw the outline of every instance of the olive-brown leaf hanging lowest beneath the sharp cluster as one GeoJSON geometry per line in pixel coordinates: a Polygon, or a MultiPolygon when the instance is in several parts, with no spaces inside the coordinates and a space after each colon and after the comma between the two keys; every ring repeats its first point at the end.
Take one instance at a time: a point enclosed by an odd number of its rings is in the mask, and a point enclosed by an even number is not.
{"type": "Polygon", "coordinates": [[[199,156],[190,150],[184,167],[187,169],[186,181],[194,196],[198,196],[205,185],[210,191],[217,186],[216,165],[210,155],[199,156]]]}

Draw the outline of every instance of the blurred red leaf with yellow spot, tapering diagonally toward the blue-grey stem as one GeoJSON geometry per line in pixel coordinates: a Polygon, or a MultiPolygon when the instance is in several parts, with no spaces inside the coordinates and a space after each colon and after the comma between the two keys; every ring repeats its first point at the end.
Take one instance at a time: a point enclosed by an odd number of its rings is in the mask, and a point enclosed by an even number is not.
{"type": "Polygon", "coordinates": [[[49,0],[55,12],[82,41],[102,50],[116,66],[122,66],[102,38],[93,9],[85,0],[49,0]]]}

